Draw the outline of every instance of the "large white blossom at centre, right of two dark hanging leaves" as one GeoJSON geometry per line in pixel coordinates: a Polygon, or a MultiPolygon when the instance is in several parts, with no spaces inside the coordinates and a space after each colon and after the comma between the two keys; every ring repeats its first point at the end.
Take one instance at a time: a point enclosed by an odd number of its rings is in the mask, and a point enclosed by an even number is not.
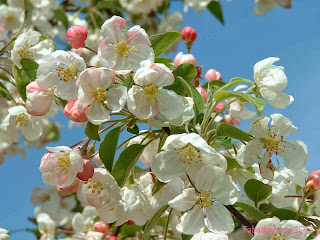
{"type": "Polygon", "coordinates": [[[196,133],[170,135],[161,152],[151,163],[151,170],[162,182],[188,174],[194,179],[203,166],[227,169],[225,158],[196,133]]]}

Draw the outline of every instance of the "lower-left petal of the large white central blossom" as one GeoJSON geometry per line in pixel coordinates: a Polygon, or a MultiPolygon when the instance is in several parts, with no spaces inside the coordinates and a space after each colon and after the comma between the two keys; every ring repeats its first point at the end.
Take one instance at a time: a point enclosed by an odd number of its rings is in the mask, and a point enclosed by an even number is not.
{"type": "Polygon", "coordinates": [[[185,174],[184,163],[175,151],[158,153],[151,163],[151,170],[162,182],[169,182],[185,174]]]}

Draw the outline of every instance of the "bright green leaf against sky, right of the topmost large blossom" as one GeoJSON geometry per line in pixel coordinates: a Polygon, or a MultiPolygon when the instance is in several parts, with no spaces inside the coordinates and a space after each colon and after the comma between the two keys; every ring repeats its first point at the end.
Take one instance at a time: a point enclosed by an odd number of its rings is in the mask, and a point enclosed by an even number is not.
{"type": "Polygon", "coordinates": [[[164,32],[150,36],[150,42],[156,57],[159,57],[167,49],[169,49],[177,40],[181,38],[179,32],[164,32]]]}

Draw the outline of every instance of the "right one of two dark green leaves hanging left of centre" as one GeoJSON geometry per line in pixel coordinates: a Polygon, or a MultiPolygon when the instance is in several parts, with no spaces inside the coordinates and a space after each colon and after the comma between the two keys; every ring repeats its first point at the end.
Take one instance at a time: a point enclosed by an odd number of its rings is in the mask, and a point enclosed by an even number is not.
{"type": "Polygon", "coordinates": [[[123,185],[127,182],[131,170],[136,165],[144,148],[145,145],[133,144],[123,150],[123,152],[120,154],[111,172],[119,187],[123,187],[123,185]]]}

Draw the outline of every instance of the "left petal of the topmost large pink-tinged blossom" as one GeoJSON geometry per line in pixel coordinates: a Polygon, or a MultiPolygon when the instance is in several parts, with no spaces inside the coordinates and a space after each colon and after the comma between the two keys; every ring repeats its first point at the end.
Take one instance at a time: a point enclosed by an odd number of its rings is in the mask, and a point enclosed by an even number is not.
{"type": "Polygon", "coordinates": [[[118,62],[118,56],[115,55],[115,52],[116,47],[113,44],[104,40],[100,42],[98,56],[106,67],[114,69],[114,66],[118,62]]]}

